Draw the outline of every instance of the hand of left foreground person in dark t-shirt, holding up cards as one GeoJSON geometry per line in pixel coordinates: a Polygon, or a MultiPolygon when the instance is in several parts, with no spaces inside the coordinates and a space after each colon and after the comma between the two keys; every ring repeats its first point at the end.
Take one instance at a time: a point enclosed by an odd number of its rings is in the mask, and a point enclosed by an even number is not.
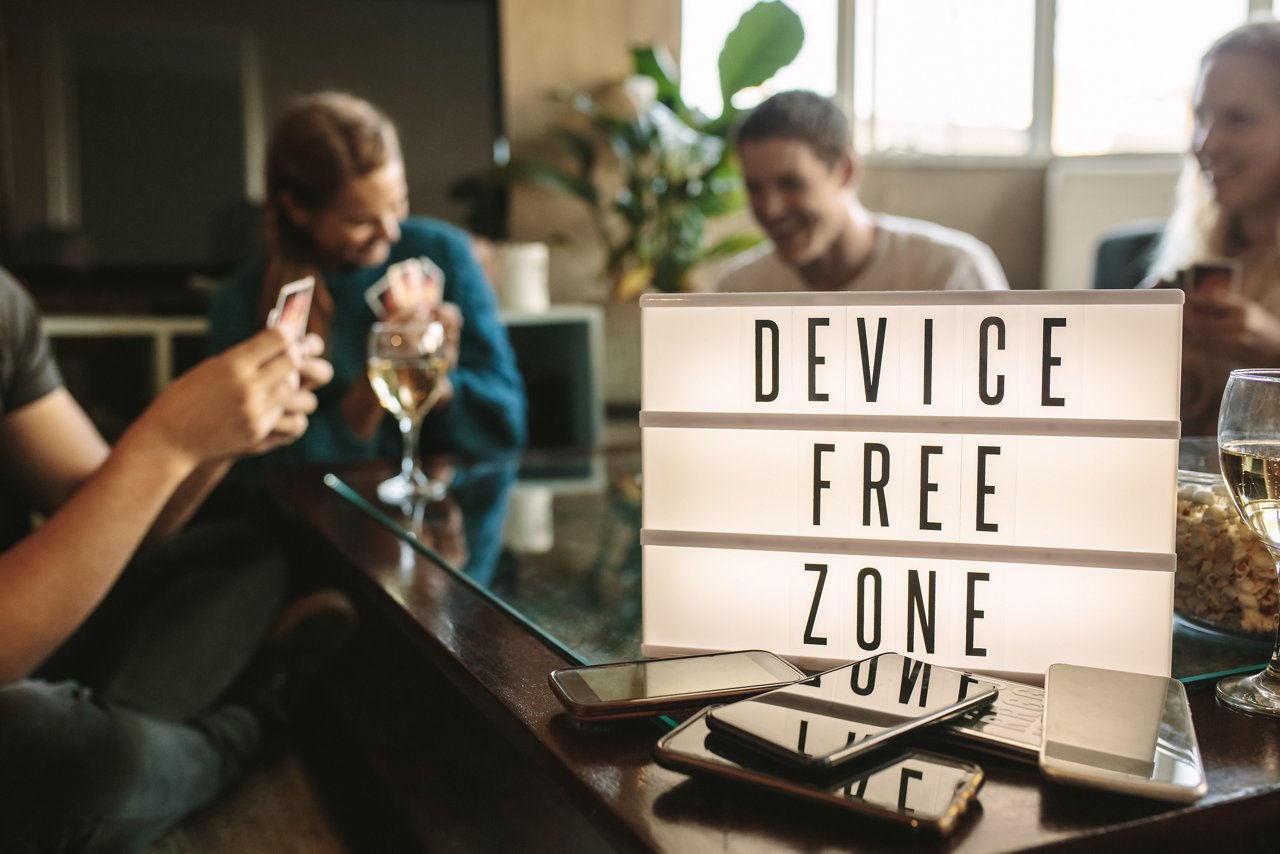
{"type": "MultiPolygon", "coordinates": [[[[323,361],[306,355],[314,347],[264,329],[170,383],[136,430],[193,466],[287,444],[306,431],[316,407],[315,393],[302,383],[303,365],[323,361]]],[[[317,382],[332,367],[311,364],[307,371],[317,382]]]]}

